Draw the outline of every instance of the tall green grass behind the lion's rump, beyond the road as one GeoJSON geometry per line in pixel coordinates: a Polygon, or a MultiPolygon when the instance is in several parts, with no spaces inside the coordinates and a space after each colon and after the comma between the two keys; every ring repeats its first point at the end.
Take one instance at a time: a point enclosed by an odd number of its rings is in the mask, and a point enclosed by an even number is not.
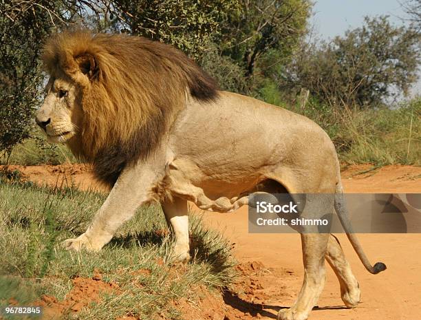
{"type": "Polygon", "coordinates": [[[364,110],[335,110],[310,100],[301,113],[325,129],[342,162],[421,164],[421,99],[364,110]]]}

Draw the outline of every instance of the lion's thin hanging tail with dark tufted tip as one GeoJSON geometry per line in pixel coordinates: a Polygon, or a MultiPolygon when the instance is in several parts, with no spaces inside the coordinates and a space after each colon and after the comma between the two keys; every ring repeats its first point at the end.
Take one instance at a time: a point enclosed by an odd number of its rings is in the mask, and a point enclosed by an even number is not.
{"type": "Polygon", "coordinates": [[[345,232],[347,233],[349,242],[351,242],[358,257],[360,258],[361,262],[363,262],[363,265],[369,271],[369,273],[376,275],[376,273],[380,273],[381,271],[386,270],[386,265],[383,264],[382,262],[376,262],[374,266],[370,264],[369,259],[364,253],[363,247],[360,245],[360,242],[358,241],[358,238],[356,237],[356,234],[353,233],[352,231],[352,226],[351,226],[351,222],[349,221],[349,215],[347,211],[345,198],[343,196],[341,176],[339,176],[339,182],[338,184],[336,184],[334,206],[335,206],[336,213],[338,214],[339,220],[341,220],[341,224],[345,232]]]}

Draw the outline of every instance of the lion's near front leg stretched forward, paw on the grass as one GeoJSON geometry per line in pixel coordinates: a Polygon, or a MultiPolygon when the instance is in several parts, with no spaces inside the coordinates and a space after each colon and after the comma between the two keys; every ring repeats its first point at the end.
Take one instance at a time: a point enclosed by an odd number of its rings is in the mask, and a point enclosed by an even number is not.
{"type": "Polygon", "coordinates": [[[99,251],[117,229],[133,217],[141,204],[151,202],[152,189],[157,181],[158,173],[146,165],[125,169],[87,231],[76,239],[65,240],[65,248],[99,251]]]}

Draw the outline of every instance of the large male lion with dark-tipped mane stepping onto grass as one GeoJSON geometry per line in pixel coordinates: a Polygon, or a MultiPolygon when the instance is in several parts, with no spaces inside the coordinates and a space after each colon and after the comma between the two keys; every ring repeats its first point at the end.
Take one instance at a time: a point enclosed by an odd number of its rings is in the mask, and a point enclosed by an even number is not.
{"type": "MultiPolygon", "coordinates": [[[[67,31],[52,36],[42,61],[50,75],[36,122],[50,142],[67,144],[110,186],[87,231],[70,250],[100,250],[142,204],[160,202],[175,235],[173,253],[189,259],[188,202],[235,211],[250,195],[332,194],[304,213],[336,210],[358,257],[332,140],[316,123],[281,107],[220,91],[190,58],[164,43],[125,34],[67,31]]],[[[278,319],[307,319],[329,262],[345,306],[360,301],[358,281],[329,233],[301,232],[305,277],[298,298],[278,319]]]]}

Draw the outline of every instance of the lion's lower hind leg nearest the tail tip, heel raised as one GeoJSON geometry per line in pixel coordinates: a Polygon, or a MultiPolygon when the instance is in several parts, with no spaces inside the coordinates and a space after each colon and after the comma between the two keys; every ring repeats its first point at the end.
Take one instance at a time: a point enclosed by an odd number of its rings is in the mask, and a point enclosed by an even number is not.
{"type": "Polygon", "coordinates": [[[341,284],[341,298],[348,308],[355,308],[360,302],[360,286],[354,274],[352,273],[349,262],[334,235],[330,235],[327,243],[326,260],[334,270],[341,284]]]}

